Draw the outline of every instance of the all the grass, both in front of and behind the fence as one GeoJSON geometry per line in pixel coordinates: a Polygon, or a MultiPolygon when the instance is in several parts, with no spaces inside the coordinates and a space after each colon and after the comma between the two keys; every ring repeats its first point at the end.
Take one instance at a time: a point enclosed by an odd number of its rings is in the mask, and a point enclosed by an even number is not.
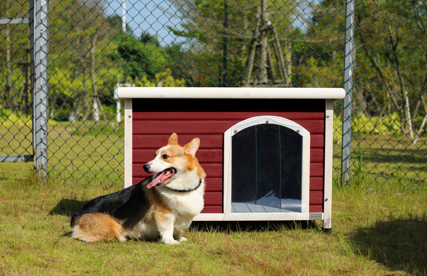
{"type": "MultiPolygon", "coordinates": [[[[0,163],[0,275],[427,274],[425,144],[356,139],[355,177],[340,187],[334,175],[330,233],[320,221],[199,222],[181,246],[85,243],[67,234],[70,215],[123,187],[123,137],[91,128],[50,125],[47,185],[32,163],[0,163]]],[[[24,128],[10,129],[0,132],[25,138],[24,128]]]]}

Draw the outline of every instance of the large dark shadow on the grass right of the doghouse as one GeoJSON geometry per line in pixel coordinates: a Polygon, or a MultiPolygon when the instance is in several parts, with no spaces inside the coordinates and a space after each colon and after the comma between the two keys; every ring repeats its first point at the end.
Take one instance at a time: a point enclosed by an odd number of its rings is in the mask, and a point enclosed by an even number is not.
{"type": "Polygon", "coordinates": [[[427,215],[421,218],[377,221],[351,236],[354,251],[393,270],[427,274],[427,215]]]}

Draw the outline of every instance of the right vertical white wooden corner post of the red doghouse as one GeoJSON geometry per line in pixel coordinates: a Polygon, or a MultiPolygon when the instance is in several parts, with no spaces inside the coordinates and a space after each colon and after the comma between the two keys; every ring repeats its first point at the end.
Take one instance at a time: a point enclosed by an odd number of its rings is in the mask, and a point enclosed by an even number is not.
{"type": "Polygon", "coordinates": [[[332,146],[333,146],[333,101],[326,100],[325,107],[325,171],[323,183],[323,228],[331,228],[332,219],[332,146]]]}

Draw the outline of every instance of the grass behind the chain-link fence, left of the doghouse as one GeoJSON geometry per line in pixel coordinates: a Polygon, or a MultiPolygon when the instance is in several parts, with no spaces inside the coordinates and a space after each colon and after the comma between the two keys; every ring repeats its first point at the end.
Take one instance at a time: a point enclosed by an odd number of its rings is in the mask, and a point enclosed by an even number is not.
{"type": "MultiPolygon", "coordinates": [[[[123,182],[123,123],[57,122],[48,128],[48,170],[58,183],[86,187],[123,182]]],[[[0,155],[32,154],[30,128],[0,125],[0,133],[0,155]]]]}

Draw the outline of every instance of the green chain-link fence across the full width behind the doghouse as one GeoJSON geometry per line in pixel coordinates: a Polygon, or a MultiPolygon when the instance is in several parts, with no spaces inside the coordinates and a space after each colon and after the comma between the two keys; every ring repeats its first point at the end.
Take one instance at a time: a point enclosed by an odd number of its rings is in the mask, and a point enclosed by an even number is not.
{"type": "MultiPolygon", "coordinates": [[[[427,1],[347,2],[354,9],[342,0],[50,0],[49,175],[123,181],[118,86],[344,87],[348,72],[348,103],[335,105],[336,180],[424,187],[427,1]]],[[[0,18],[29,11],[28,1],[0,3],[0,18]]],[[[29,36],[28,25],[0,21],[1,156],[32,154],[29,36]]]]}

